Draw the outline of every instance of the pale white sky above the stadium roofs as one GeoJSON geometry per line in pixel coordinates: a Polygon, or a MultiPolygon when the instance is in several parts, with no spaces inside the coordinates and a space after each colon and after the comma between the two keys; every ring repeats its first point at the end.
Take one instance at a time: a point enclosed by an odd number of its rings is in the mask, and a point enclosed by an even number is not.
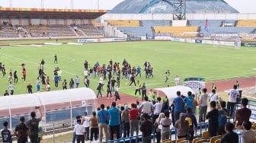
{"type": "MultiPolygon", "coordinates": [[[[0,6],[9,8],[41,8],[42,0],[0,0],[0,6]]],[[[72,0],[43,0],[43,8],[71,8],[72,0]]],[[[225,0],[240,13],[256,13],[256,0],[225,0]]],[[[106,9],[114,8],[123,0],[73,0],[75,9],[106,9]],[[98,5],[99,4],[99,5],[98,5]]]]}

